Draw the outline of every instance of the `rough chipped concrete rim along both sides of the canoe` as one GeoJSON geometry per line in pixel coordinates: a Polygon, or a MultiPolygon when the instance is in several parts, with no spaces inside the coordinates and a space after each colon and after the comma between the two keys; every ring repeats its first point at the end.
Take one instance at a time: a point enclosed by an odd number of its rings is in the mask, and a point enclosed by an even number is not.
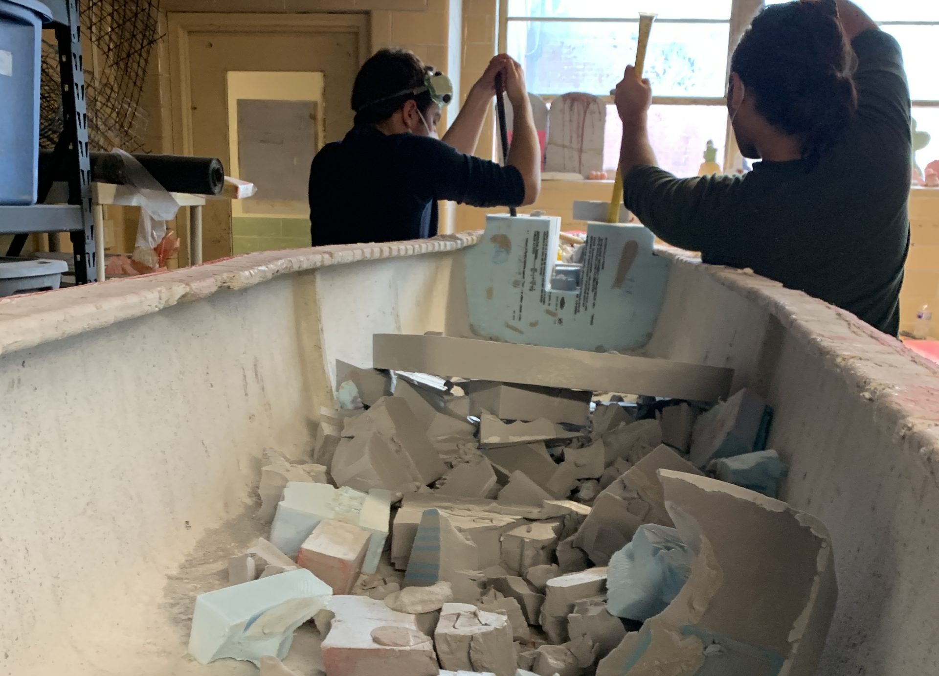
{"type": "MultiPolygon", "coordinates": [[[[220,290],[241,290],[290,273],[360,261],[452,253],[480,232],[381,244],[258,252],[212,263],[0,300],[0,355],[50,343],[126,319],[151,315],[220,290]]],[[[913,438],[939,485],[939,365],[854,315],[748,270],[706,266],[693,254],[658,247],[676,266],[703,269],[719,284],[776,316],[810,353],[837,364],[857,395],[913,438]]]]}

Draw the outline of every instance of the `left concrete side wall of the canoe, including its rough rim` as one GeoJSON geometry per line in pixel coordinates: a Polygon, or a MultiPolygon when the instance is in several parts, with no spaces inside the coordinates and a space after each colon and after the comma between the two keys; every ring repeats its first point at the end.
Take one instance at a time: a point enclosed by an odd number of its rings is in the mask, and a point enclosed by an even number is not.
{"type": "Polygon", "coordinates": [[[312,448],[333,360],[369,364],[373,332],[443,330],[464,241],[0,301],[0,674],[256,674],[185,643],[193,594],[265,532],[261,450],[312,448]]]}

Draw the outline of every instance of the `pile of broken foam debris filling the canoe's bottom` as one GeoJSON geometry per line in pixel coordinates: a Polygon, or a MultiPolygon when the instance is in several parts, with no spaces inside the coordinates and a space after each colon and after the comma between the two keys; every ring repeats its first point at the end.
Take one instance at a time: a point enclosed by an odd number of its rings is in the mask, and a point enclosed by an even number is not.
{"type": "Polygon", "coordinates": [[[328,676],[813,673],[831,546],[775,499],[760,396],[460,375],[337,364],[312,463],[264,454],[269,539],[197,598],[196,660],[286,676],[312,621],[328,676]]]}

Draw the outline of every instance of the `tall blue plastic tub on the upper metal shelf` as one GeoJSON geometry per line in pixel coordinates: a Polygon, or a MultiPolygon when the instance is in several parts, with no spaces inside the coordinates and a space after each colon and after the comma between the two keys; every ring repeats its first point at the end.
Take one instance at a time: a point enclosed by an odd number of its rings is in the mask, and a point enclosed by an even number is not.
{"type": "Polygon", "coordinates": [[[36,204],[39,54],[51,17],[35,0],[0,0],[0,205],[36,204]]]}

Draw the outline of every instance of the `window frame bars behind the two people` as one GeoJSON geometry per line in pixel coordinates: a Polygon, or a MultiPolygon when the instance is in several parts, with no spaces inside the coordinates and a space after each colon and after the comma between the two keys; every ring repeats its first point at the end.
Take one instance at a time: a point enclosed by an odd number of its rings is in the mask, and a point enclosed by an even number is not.
{"type": "MultiPolygon", "coordinates": [[[[753,20],[753,17],[756,16],[765,3],[763,0],[731,0],[731,17],[729,20],[724,19],[657,19],[656,23],[729,23],[730,32],[727,45],[727,72],[725,77],[730,77],[731,74],[731,54],[733,50],[736,49],[737,43],[740,41],[740,38],[743,37],[744,32],[747,30],[747,26],[753,20]]],[[[499,3],[499,24],[497,26],[497,40],[499,45],[499,53],[504,54],[507,48],[507,35],[508,35],[508,24],[513,21],[525,21],[525,22],[542,22],[542,23],[632,23],[638,24],[639,17],[636,19],[618,19],[618,18],[587,18],[587,17],[524,17],[524,16],[509,16],[509,2],[508,0],[500,0],[499,3]]],[[[877,25],[881,27],[885,26],[894,26],[894,25],[928,25],[928,26],[939,26],[939,22],[921,22],[921,21],[886,21],[886,22],[877,22],[877,25]]],[[[538,92],[531,92],[544,100],[547,104],[550,104],[553,100],[558,98],[558,95],[554,94],[539,94],[538,92]]],[[[598,98],[603,101],[605,104],[613,103],[613,97],[611,95],[598,96],[598,98]]],[[[713,106],[727,106],[727,96],[722,97],[653,97],[652,100],[654,105],[713,105],[713,106]]],[[[913,100],[914,108],[939,108],[939,100],[913,100]]],[[[736,139],[733,135],[733,129],[731,128],[731,121],[727,121],[726,136],[724,140],[724,170],[732,171],[734,169],[733,162],[735,161],[739,153],[739,148],[737,147],[736,139]]]]}

